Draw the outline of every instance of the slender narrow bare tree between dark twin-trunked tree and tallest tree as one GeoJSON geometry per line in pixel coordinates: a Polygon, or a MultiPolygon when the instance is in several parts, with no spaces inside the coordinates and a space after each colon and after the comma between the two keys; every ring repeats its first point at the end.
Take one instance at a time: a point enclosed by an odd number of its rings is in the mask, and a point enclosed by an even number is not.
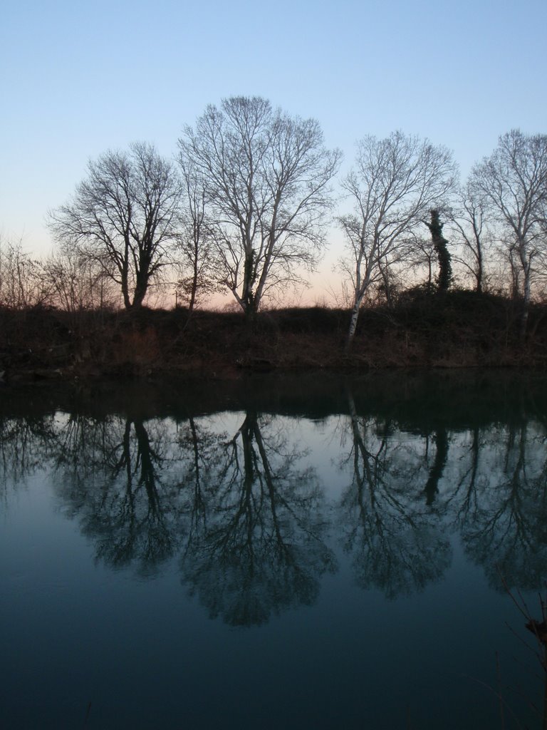
{"type": "Polygon", "coordinates": [[[201,297],[216,291],[214,280],[216,251],[212,223],[206,216],[206,186],[191,159],[179,154],[182,171],[182,204],[179,234],[176,237],[175,266],[181,272],[177,294],[187,299],[193,311],[201,297]]]}

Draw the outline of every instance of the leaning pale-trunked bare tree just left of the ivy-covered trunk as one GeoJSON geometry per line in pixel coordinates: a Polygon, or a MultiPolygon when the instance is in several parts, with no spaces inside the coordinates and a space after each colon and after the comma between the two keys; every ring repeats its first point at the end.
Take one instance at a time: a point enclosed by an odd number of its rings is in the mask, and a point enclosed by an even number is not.
{"type": "Polygon", "coordinates": [[[338,218],[349,248],[341,269],[354,292],[348,347],[368,288],[407,257],[416,229],[443,203],[455,176],[451,153],[427,140],[396,131],[358,142],[355,167],[342,183],[354,212],[338,218]]]}

